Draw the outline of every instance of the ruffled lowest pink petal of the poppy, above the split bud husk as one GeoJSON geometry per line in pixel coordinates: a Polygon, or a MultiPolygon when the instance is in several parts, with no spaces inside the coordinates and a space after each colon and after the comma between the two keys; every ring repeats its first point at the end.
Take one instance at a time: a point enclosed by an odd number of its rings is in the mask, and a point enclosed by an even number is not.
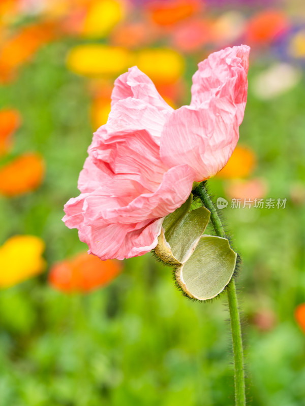
{"type": "Polygon", "coordinates": [[[186,201],[193,178],[188,165],[171,168],[155,193],[139,195],[127,206],[99,188],[70,199],[64,221],[78,228],[80,240],[101,259],[142,255],[157,245],[163,217],[186,201]]]}

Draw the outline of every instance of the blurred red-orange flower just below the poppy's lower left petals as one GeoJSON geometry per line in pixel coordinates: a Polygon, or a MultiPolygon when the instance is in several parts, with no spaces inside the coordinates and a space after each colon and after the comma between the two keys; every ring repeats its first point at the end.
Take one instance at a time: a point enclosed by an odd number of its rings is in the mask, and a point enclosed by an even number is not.
{"type": "Polygon", "coordinates": [[[94,255],[80,253],[52,266],[49,282],[63,292],[89,292],[110,283],[121,269],[117,260],[102,261],[94,255]]]}

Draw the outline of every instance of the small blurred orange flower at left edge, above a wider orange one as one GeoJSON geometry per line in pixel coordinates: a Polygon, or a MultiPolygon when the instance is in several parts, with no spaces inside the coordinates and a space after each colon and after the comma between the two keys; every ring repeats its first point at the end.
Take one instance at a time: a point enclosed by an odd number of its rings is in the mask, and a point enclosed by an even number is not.
{"type": "Polygon", "coordinates": [[[20,126],[21,118],[17,110],[0,110],[0,156],[9,152],[12,134],[20,126]]]}

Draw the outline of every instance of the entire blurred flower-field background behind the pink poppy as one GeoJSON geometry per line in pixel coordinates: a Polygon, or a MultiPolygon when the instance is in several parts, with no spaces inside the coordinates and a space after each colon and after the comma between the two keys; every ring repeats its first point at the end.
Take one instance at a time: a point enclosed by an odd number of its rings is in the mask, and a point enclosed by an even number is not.
{"type": "Polygon", "coordinates": [[[209,186],[229,201],[243,259],[249,404],[305,404],[303,7],[1,0],[0,406],[234,403],[226,296],[187,300],[151,254],[88,256],[61,218],[119,74],[138,65],[178,108],[197,63],[241,43],[252,48],[245,119],[209,186]],[[234,209],[233,198],[287,200],[234,209]]]}

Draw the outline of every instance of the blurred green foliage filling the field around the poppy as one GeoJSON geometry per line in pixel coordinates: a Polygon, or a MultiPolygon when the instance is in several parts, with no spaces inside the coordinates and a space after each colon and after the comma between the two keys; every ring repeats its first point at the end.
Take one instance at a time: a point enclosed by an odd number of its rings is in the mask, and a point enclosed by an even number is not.
{"type": "MultiPolygon", "coordinates": [[[[46,179],[36,192],[0,198],[0,243],[14,234],[46,242],[48,265],[86,246],[60,221],[78,194],[77,178],[92,137],[86,80],[68,72],[68,43],[42,49],[18,80],[0,89],[23,125],[14,154],[40,152],[46,179]]],[[[305,299],[304,202],[291,187],[305,180],[305,83],[268,101],[249,100],[240,142],[258,157],[255,176],[285,209],[225,209],[243,258],[237,280],[243,309],[247,392],[253,406],[305,403],[305,335],[294,321],[305,299]],[[268,329],[255,322],[271,312],[268,329]]],[[[189,67],[195,71],[195,64],[189,67]]],[[[188,103],[188,97],[186,97],[188,103]]],[[[216,196],[225,183],[209,181],[216,196]]],[[[224,406],[234,403],[226,296],[187,300],[171,270],[150,254],[126,261],[109,287],[88,295],[52,290],[46,274],[0,292],[0,406],[224,406]]]]}

